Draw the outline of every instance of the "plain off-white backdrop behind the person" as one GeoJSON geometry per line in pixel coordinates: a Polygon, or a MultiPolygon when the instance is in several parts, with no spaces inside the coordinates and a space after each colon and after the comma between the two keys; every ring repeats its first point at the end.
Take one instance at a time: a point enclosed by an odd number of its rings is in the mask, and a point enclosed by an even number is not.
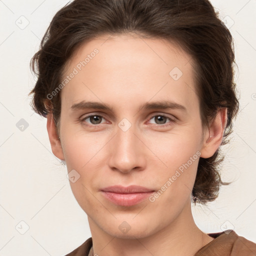
{"type": "MultiPolygon", "coordinates": [[[[52,154],[46,119],[33,113],[29,61],[67,0],[0,0],[0,255],[65,255],[91,236],[67,170],[52,154]]],[[[234,229],[256,242],[256,0],[212,0],[234,37],[240,111],[222,177],[207,206],[192,206],[204,232],[234,229]]],[[[166,209],[168,210],[168,209],[166,209]]]]}

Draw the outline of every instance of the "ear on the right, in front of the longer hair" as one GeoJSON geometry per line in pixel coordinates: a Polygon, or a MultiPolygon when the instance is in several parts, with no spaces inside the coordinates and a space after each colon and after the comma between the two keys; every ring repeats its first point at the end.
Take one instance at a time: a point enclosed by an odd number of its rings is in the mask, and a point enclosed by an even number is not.
{"type": "Polygon", "coordinates": [[[202,158],[212,156],[220,146],[227,120],[227,108],[223,107],[217,112],[216,117],[211,122],[203,138],[202,148],[200,150],[202,158]]]}

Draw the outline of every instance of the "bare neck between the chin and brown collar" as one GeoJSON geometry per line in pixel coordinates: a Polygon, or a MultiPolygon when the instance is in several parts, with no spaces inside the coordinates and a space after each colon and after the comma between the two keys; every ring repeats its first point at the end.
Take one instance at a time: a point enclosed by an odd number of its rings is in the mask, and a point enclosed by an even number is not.
{"type": "Polygon", "coordinates": [[[109,234],[99,228],[88,217],[92,242],[93,255],[100,256],[193,256],[202,246],[213,240],[203,233],[194,223],[191,204],[167,226],[150,235],[131,235],[122,238],[109,234]]]}

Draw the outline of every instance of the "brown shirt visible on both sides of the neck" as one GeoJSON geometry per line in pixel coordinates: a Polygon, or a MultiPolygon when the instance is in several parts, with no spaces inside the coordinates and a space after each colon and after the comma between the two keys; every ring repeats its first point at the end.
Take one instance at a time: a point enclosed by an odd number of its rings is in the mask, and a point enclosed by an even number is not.
{"type": "MultiPolygon", "coordinates": [[[[200,248],[194,256],[256,256],[256,243],[237,235],[233,230],[209,233],[212,241],[200,248]]],[[[65,256],[93,256],[92,238],[65,256]]]]}

